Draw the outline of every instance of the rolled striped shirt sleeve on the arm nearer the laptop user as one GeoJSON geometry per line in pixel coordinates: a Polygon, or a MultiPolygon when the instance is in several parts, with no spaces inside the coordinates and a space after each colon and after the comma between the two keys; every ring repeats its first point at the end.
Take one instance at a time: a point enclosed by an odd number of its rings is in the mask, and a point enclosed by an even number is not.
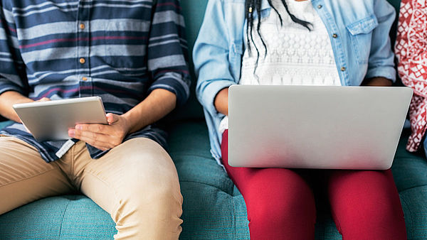
{"type": "Polygon", "coordinates": [[[190,94],[188,47],[184,17],[176,0],[158,0],[153,6],[148,45],[148,70],[154,89],[167,89],[176,94],[176,105],[183,105],[190,94]]]}

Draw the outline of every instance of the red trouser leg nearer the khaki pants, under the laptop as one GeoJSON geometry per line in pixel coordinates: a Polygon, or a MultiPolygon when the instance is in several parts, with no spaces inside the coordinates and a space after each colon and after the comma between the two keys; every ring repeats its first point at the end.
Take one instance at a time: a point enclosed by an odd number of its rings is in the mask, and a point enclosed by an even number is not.
{"type": "Polygon", "coordinates": [[[223,165],[246,202],[251,239],[314,239],[316,207],[307,182],[285,168],[228,165],[228,131],[221,145],[223,165]]]}

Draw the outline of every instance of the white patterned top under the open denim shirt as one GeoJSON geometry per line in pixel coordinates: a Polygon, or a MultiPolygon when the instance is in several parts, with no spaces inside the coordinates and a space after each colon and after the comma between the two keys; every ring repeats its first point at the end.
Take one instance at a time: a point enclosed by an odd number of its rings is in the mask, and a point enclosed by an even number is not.
{"type": "MultiPolygon", "coordinates": [[[[281,0],[272,2],[282,16],[283,26],[273,9],[270,16],[261,19],[260,33],[267,46],[267,55],[260,36],[253,30],[253,40],[260,52],[256,67],[255,46],[251,36],[245,39],[246,45],[251,45],[251,53],[248,48],[243,53],[239,84],[340,86],[329,33],[311,1],[286,0],[292,14],[312,23],[311,31],[290,19],[281,0]]],[[[257,21],[254,28],[256,26],[257,21]]],[[[228,117],[224,117],[219,126],[221,133],[226,129],[228,117]]]]}

